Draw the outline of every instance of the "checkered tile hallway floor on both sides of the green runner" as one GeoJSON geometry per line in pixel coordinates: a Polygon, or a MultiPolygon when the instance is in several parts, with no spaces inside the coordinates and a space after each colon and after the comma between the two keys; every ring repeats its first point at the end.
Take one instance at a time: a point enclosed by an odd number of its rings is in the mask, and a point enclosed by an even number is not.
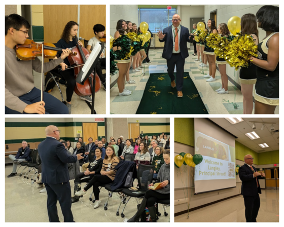
{"type": "MultiPolygon", "coordinates": [[[[150,50],[149,58],[151,64],[145,66],[145,75],[141,72],[130,73],[130,78],[136,81],[136,84],[125,85],[128,90],[132,91],[129,96],[117,96],[118,87],[117,84],[111,89],[110,103],[111,103],[111,113],[113,114],[134,114],[139,106],[140,100],[143,96],[143,92],[148,81],[150,73],[155,72],[165,72],[167,73],[166,60],[162,58],[161,49],[150,50]],[[126,107],[127,106],[127,107],[126,107]]],[[[186,58],[185,71],[189,72],[192,81],[194,82],[197,90],[199,91],[200,97],[202,98],[205,107],[209,114],[242,114],[242,94],[239,89],[236,89],[231,82],[229,82],[229,94],[220,95],[215,92],[216,89],[221,86],[221,75],[217,70],[217,81],[216,82],[206,82],[203,78],[202,73],[207,74],[208,68],[203,69],[198,67],[199,62],[194,61],[196,57],[193,55],[193,51],[189,50],[189,57],[186,58]],[[235,95],[236,93],[236,95],[235,95]],[[236,102],[237,108],[231,103],[236,102]]],[[[229,66],[228,66],[229,67],[229,66]]],[[[150,103],[150,100],[149,100],[150,103]]],[[[254,110],[253,110],[254,113],[254,110]]],[[[275,113],[279,113],[279,106],[276,107],[275,113]]]]}

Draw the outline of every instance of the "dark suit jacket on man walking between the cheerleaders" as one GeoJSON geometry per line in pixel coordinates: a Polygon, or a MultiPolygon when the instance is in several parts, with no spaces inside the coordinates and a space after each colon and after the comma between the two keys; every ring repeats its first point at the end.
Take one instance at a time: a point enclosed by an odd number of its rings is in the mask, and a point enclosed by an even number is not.
{"type": "MultiPolygon", "coordinates": [[[[164,39],[163,40],[159,39],[161,43],[165,42],[162,58],[170,59],[171,54],[172,54],[172,48],[173,48],[172,46],[173,45],[172,25],[169,27],[166,27],[163,30],[163,34],[166,34],[164,39]]],[[[186,59],[189,56],[188,50],[187,50],[187,42],[190,41],[188,28],[181,25],[181,35],[179,38],[180,38],[181,55],[183,59],[186,59]]]]}

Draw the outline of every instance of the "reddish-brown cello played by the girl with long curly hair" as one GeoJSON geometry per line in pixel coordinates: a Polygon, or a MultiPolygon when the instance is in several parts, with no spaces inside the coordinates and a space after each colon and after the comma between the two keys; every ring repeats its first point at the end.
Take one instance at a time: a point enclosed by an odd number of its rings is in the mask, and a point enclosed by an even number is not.
{"type": "MultiPolygon", "coordinates": [[[[75,36],[75,40],[76,43],[78,43],[78,39],[77,36],[75,36]]],[[[78,73],[80,72],[80,70],[83,67],[83,64],[85,64],[85,62],[87,61],[90,53],[89,51],[84,48],[81,47],[79,45],[77,45],[77,47],[72,49],[73,52],[77,52],[78,54],[76,56],[68,56],[68,61],[70,63],[70,67],[74,67],[74,72],[75,72],[75,79],[77,78],[78,73]],[[76,67],[78,66],[78,67],[76,67]]],[[[69,68],[70,68],[69,67],[69,68]]],[[[75,93],[79,96],[86,96],[86,95],[92,95],[92,85],[93,85],[93,80],[94,80],[94,74],[93,72],[89,75],[88,80],[85,81],[84,85],[79,84],[78,82],[76,82],[76,86],[75,86],[75,93]]],[[[95,74],[95,93],[98,92],[100,90],[100,79],[97,75],[97,73],[95,74]]]]}

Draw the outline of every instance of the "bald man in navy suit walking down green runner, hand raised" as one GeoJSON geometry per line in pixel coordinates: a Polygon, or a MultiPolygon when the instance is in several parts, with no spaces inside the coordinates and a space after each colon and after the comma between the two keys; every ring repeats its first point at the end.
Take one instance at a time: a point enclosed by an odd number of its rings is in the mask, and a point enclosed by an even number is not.
{"type": "Polygon", "coordinates": [[[189,56],[187,42],[189,39],[188,28],[180,25],[181,17],[177,14],[172,16],[172,25],[166,27],[163,32],[158,31],[159,41],[165,42],[162,57],[167,59],[168,74],[171,87],[177,90],[177,97],[183,97],[184,66],[185,59],[189,56]],[[176,66],[176,85],[174,82],[174,66],[176,66]]]}

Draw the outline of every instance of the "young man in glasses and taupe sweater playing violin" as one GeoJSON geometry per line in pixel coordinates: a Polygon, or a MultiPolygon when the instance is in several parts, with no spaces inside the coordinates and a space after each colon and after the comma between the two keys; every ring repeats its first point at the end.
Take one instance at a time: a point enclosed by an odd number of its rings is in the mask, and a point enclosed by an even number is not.
{"type": "MultiPolygon", "coordinates": [[[[29,28],[28,21],[17,14],[5,17],[5,113],[67,114],[65,104],[48,93],[41,101],[41,90],[34,87],[32,70],[42,71],[40,59],[20,61],[16,57],[15,46],[25,43],[29,28]]],[[[44,71],[62,63],[69,53],[63,50],[58,59],[44,63],[44,71]]]]}

